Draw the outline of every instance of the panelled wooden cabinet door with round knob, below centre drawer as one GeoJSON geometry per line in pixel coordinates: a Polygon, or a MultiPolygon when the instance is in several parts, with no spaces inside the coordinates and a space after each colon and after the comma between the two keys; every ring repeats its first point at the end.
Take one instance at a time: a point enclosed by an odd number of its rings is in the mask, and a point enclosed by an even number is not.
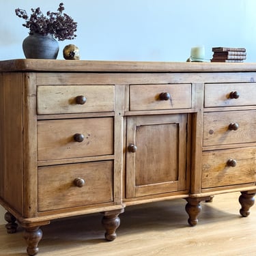
{"type": "Polygon", "coordinates": [[[186,190],[187,115],[128,117],[126,197],[186,190]]]}

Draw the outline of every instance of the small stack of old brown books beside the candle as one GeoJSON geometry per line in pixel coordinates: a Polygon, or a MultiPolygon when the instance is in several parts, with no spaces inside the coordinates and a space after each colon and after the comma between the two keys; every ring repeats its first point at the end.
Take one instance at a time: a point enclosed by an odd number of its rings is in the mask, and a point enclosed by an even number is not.
{"type": "Polygon", "coordinates": [[[211,62],[243,62],[246,59],[245,48],[213,47],[211,62]]]}

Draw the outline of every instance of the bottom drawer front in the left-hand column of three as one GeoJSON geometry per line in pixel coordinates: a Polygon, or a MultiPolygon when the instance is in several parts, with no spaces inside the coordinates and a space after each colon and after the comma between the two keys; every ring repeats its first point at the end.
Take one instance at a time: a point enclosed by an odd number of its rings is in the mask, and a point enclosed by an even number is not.
{"type": "Polygon", "coordinates": [[[112,201],[112,161],[38,168],[39,212],[112,201]]]}

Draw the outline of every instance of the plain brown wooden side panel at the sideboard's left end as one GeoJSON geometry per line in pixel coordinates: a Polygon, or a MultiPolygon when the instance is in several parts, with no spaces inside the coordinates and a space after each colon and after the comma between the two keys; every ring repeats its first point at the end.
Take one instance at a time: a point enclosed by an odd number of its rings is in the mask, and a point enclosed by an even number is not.
{"type": "Polygon", "coordinates": [[[21,73],[2,73],[0,81],[0,197],[23,214],[23,83],[21,73]]]}

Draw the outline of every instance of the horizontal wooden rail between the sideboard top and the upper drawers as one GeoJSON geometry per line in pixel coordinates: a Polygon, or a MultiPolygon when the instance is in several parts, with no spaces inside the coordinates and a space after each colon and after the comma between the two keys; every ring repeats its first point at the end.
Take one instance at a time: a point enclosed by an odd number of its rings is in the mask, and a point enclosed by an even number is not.
{"type": "MultiPolygon", "coordinates": [[[[184,65],[184,63],[182,63],[184,65]]],[[[147,72],[137,72],[130,75],[129,70],[126,72],[116,73],[106,73],[105,72],[89,72],[89,70],[84,70],[84,72],[76,73],[51,73],[42,72],[37,74],[37,83],[39,85],[65,85],[66,81],[70,81],[70,85],[104,85],[111,84],[115,81],[115,84],[175,84],[175,83],[191,83],[191,81],[196,81],[195,83],[203,83],[208,81],[208,83],[216,83],[216,72],[203,72],[198,74],[198,72],[186,73],[185,66],[183,72],[172,72],[171,70],[166,70],[165,72],[154,72],[151,73],[149,70],[147,72]],[[79,76],[77,75],[79,74],[79,76]]],[[[136,72],[136,71],[134,71],[136,72]]],[[[221,72],[218,73],[218,83],[251,83],[256,81],[256,74],[253,72],[237,72],[236,76],[233,76],[233,72],[221,72]]]]}

